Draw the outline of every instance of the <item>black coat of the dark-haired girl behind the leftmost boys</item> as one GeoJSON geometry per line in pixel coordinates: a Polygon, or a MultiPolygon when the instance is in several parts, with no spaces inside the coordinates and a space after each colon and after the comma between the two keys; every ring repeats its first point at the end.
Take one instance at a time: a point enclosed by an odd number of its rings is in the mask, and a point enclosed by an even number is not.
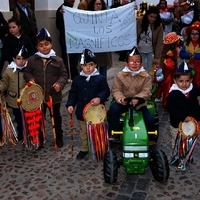
{"type": "Polygon", "coordinates": [[[24,45],[24,47],[28,50],[29,57],[35,53],[33,44],[28,36],[22,34],[20,38],[17,38],[9,33],[3,41],[3,53],[5,61],[8,61],[9,63],[13,61],[13,54],[16,48],[22,45],[24,45]]]}

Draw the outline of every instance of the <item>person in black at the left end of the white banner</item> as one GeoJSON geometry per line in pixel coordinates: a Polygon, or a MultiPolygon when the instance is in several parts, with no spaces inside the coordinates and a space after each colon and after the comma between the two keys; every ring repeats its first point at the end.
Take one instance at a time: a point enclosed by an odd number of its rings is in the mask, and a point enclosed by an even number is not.
{"type": "Polygon", "coordinates": [[[67,54],[66,39],[65,39],[65,26],[63,19],[63,6],[72,8],[74,6],[74,0],[64,0],[63,4],[56,11],[56,27],[60,32],[59,43],[62,52],[62,59],[65,64],[66,70],[69,74],[69,81],[73,80],[78,75],[78,60],[79,54],[67,54]]]}

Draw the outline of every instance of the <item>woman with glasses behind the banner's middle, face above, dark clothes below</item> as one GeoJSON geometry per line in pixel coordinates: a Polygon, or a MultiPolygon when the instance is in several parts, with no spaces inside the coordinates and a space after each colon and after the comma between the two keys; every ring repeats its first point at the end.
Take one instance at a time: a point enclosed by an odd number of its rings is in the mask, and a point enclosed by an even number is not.
{"type": "MultiPolygon", "coordinates": [[[[88,10],[100,11],[106,10],[106,3],[104,0],[91,0],[88,5],[88,10]]],[[[107,79],[107,67],[112,66],[111,52],[95,53],[99,68],[99,73],[104,75],[107,79]]]]}

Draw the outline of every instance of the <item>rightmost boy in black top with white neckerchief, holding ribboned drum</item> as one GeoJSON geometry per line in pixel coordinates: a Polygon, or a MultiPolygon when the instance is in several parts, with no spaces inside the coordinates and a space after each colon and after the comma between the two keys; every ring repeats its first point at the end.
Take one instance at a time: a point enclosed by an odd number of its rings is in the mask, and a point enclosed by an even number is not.
{"type": "Polygon", "coordinates": [[[166,109],[170,115],[170,133],[172,136],[171,164],[179,171],[186,170],[188,162],[193,162],[192,153],[199,134],[200,107],[197,97],[200,88],[192,84],[192,73],[185,62],[174,73],[174,84],[170,88],[166,109]],[[195,119],[196,122],[193,120],[195,119]],[[180,131],[185,123],[186,129],[180,131]],[[195,132],[187,124],[195,123],[195,132]],[[185,133],[184,133],[185,132],[185,133]]]}

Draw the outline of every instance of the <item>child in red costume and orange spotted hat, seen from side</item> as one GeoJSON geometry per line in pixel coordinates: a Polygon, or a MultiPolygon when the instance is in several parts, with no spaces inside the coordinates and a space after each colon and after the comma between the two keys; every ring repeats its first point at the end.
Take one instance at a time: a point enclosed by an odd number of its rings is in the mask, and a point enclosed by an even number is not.
{"type": "Polygon", "coordinates": [[[180,36],[177,35],[175,32],[171,32],[165,36],[165,39],[163,41],[164,47],[160,64],[161,68],[163,69],[164,80],[158,84],[156,92],[157,99],[161,99],[162,96],[163,107],[166,107],[169,89],[173,84],[173,75],[177,69],[177,45],[179,40],[180,36]]]}

